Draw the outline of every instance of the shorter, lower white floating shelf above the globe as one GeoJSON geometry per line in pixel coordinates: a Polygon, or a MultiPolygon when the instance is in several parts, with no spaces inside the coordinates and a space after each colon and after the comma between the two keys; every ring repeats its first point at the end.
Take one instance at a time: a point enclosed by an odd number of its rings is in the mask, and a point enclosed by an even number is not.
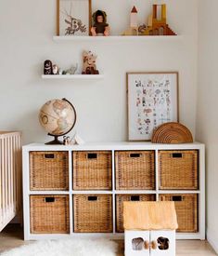
{"type": "Polygon", "coordinates": [[[42,74],[43,79],[101,80],[104,74],[42,74]]]}

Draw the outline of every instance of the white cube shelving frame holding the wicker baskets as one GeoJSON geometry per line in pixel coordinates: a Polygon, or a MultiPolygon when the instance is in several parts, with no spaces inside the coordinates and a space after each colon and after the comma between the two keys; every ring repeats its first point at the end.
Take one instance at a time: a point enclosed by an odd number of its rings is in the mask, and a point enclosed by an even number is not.
{"type": "MultiPolygon", "coordinates": [[[[50,154],[52,155],[52,154],[50,154]]],[[[136,154],[138,155],[138,154],[136,154]]],[[[136,156],[135,155],[135,156],[136,156]]],[[[32,143],[23,146],[22,149],[22,163],[23,163],[23,214],[24,214],[24,239],[45,239],[45,238],[61,238],[69,236],[105,236],[110,238],[123,238],[122,233],[116,231],[116,195],[153,195],[156,200],[160,200],[164,195],[172,195],[175,201],[186,195],[195,195],[198,198],[197,202],[197,222],[198,229],[197,232],[182,232],[176,233],[177,239],[205,239],[205,147],[204,144],[199,142],[194,143],[184,143],[184,144],[154,144],[151,142],[97,142],[97,143],[85,143],[83,145],[45,145],[42,143],[32,143]],[[159,177],[159,152],[161,150],[169,151],[198,151],[198,176],[199,185],[198,189],[190,190],[160,190],[160,177],[159,177]],[[69,189],[63,190],[31,190],[31,178],[30,178],[30,153],[35,152],[45,152],[49,156],[51,152],[62,152],[65,151],[68,154],[68,168],[69,168],[69,189]],[[77,151],[109,151],[111,153],[111,190],[73,190],[72,180],[72,154],[77,151]],[[115,175],[115,152],[117,151],[133,151],[133,155],[138,151],[153,151],[154,152],[154,172],[155,172],[155,185],[154,189],[116,189],[116,175],[115,175]],[[45,195],[47,196],[48,203],[52,203],[51,195],[68,195],[69,198],[69,226],[70,230],[68,234],[32,234],[31,233],[31,206],[30,206],[30,196],[31,195],[45,195]],[[50,195],[50,197],[49,197],[50,195]],[[74,233],[73,231],[73,195],[112,195],[112,205],[111,205],[111,216],[112,216],[112,232],[111,233],[74,233]],[[162,196],[161,196],[162,195],[162,196]],[[178,196],[176,196],[178,195],[178,196]]],[[[55,197],[55,196],[54,196],[55,197]]],[[[61,196],[60,196],[61,197],[61,196]]],[[[129,196],[131,197],[131,196],[129,196]]],[[[135,199],[140,196],[133,196],[135,199]]]]}

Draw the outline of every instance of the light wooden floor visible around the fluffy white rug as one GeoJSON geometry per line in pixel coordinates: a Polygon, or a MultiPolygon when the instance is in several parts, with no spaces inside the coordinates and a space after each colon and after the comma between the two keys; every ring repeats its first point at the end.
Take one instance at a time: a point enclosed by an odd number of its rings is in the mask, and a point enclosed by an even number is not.
{"type": "MultiPolygon", "coordinates": [[[[0,233],[0,255],[7,249],[19,247],[30,242],[23,241],[22,229],[18,224],[11,224],[0,233]]],[[[118,241],[119,252],[123,256],[123,241],[118,241]]],[[[212,256],[217,255],[207,241],[179,240],[176,242],[176,256],[212,256]]]]}

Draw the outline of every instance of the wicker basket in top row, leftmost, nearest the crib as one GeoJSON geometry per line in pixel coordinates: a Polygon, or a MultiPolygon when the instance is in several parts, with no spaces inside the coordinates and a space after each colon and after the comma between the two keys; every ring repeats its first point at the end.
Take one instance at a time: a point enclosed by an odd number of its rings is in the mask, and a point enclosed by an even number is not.
{"type": "Polygon", "coordinates": [[[30,152],[31,190],[68,190],[68,152],[30,152]]]}

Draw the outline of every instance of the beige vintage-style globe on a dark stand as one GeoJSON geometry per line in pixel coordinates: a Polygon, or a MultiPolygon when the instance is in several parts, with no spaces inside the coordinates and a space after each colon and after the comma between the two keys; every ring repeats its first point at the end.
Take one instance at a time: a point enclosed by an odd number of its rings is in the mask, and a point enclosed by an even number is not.
{"type": "Polygon", "coordinates": [[[58,141],[58,137],[66,135],[74,127],[76,111],[71,102],[66,99],[47,101],[40,110],[39,121],[48,135],[55,137],[54,141],[46,144],[63,144],[62,141],[58,141]]]}

